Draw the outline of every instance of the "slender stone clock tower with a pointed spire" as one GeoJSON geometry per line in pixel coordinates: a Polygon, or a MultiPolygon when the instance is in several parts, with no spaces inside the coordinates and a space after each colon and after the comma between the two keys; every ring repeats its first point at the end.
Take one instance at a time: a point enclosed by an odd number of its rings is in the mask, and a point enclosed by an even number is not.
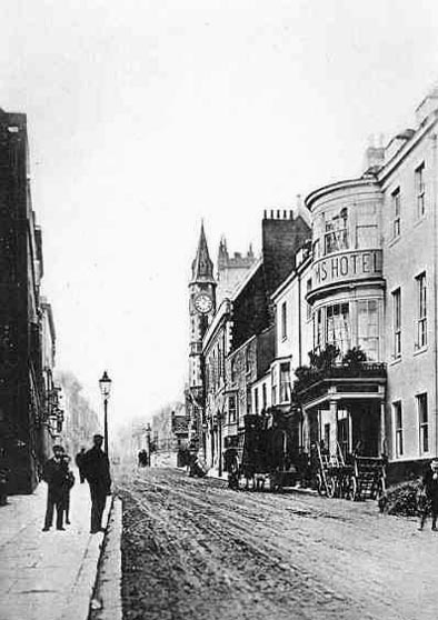
{"type": "MultiPolygon", "coordinates": [[[[216,281],[213,263],[208,252],[203,223],[199,236],[198,250],[191,264],[189,283],[190,357],[187,409],[190,419],[190,434],[201,440],[203,411],[203,360],[202,338],[216,312],[216,281]]],[[[202,449],[202,446],[199,446],[202,449]]]]}

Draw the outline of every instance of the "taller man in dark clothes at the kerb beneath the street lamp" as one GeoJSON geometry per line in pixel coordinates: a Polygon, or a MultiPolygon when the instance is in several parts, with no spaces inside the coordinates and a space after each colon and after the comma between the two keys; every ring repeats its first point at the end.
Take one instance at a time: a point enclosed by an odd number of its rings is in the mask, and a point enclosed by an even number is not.
{"type": "Polygon", "coordinates": [[[102,516],[107,496],[111,491],[109,461],[102,450],[103,437],[94,434],[93,447],[88,450],[82,460],[83,474],[90,486],[91,496],[91,528],[90,533],[103,531],[102,516]]]}

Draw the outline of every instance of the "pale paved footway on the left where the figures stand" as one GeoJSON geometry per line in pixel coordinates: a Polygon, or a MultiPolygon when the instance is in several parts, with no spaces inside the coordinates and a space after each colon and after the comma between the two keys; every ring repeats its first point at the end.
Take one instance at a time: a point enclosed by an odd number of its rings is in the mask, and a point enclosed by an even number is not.
{"type": "Polygon", "coordinates": [[[89,533],[89,487],[74,473],[66,531],[42,531],[44,482],[0,507],[0,620],[87,620],[103,533],[89,533]]]}

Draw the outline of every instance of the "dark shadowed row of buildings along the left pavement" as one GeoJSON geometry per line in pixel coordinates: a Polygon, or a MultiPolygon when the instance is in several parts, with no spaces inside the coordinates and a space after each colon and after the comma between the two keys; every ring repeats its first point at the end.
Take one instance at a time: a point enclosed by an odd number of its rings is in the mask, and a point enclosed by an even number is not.
{"type": "Polygon", "coordinates": [[[0,469],[10,493],[33,490],[63,422],[42,276],[26,116],[0,110],[0,469]]]}

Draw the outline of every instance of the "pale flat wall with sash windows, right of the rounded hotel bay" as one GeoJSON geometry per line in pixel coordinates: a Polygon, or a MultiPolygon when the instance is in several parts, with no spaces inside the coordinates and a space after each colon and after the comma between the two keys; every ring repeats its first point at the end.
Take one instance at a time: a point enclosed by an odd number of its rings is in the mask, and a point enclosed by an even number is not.
{"type": "Polygon", "coordinates": [[[419,128],[401,144],[392,164],[381,172],[385,192],[384,274],[386,299],[386,361],[388,364],[387,433],[391,459],[405,462],[438,453],[436,360],[437,244],[436,123],[419,128]],[[424,197],[419,212],[416,170],[424,166],[424,197]],[[398,206],[396,213],[396,196],[398,206]],[[396,221],[398,220],[398,222],[396,221]],[[426,282],[426,326],[419,334],[419,276],[426,282]],[[395,293],[400,291],[400,349],[395,337],[395,293]],[[427,439],[421,429],[419,400],[427,394],[427,439]],[[420,397],[421,398],[421,397],[420,397]],[[399,433],[398,407],[401,406],[399,433]],[[397,439],[401,434],[402,446],[397,439]]]}

